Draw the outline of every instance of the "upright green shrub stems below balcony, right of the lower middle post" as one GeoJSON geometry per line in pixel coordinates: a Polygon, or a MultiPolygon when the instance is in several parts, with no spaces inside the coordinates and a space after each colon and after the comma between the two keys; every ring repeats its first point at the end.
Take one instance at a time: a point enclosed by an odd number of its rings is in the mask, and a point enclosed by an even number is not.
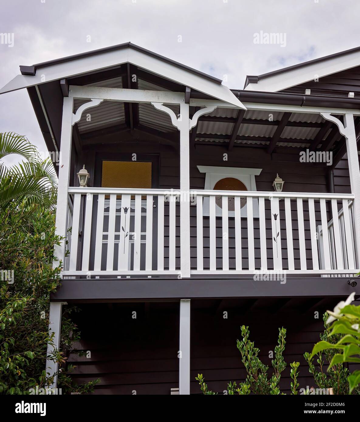
{"type": "MultiPolygon", "coordinates": [[[[271,361],[273,366],[273,375],[271,376],[271,379],[268,378],[269,367],[259,359],[259,349],[254,346],[254,342],[249,341],[249,334],[249,327],[243,325],[241,327],[241,336],[243,339],[241,341],[237,340],[237,348],[241,353],[241,360],[244,363],[247,373],[246,379],[239,384],[238,388],[236,388],[236,382],[232,383],[230,381],[229,384],[227,384],[227,394],[233,395],[236,391],[239,395],[247,395],[250,394],[250,392],[261,395],[278,395],[280,394],[279,382],[281,374],[286,368],[286,362],[283,357],[286,343],[286,330],[285,328],[279,328],[279,339],[278,345],[275,347],[275,358],[271,361]]],[[[290,376],[292,379],[290,387],[293,395],[298,394],[297,389],[299,384],[297,378],[299,365],[299,362],[292,362],[290,364],[290,376]]],[[[217,394],[216,392],[208,390],[203,374],[198,374],[195,379],[199,381],[200,389],[203,394],[217,394]]]]}

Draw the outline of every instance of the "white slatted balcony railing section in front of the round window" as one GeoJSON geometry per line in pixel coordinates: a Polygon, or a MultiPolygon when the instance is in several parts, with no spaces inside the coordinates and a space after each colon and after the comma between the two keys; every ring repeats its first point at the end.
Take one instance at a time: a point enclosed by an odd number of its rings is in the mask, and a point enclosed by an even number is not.
{"type": "Polygon", "coordinates": [[[193,274],[246,274],[255,270],[341,274],[344,268],[357,272],[352,259],[354,230],[348,205],[353,195],[205,190],[193,193],[197,198],[197,265],[193,274]],[[340,209],[344,211],[339,213],[340,209]],[[343,241],[339,216],[343,219],[343,241]],[[321,250],[318,245],[317,226],[326,227],[330,220],[335,260],[331,260],[328,232],[319,239],[321,250]]]}

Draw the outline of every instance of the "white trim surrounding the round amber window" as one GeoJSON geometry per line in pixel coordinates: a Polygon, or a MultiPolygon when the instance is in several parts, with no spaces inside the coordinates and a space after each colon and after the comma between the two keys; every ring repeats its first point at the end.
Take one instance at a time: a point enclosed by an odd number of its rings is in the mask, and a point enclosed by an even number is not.
{"type": "MultiPolygon", "coordinates": [[[[215,184],[225,177],[233,177],[244,183],[248,191],[256,192],[255,176],[259,176],[262,168],[241,168],[241,167],[214,167],[207,165],[197,166],[200,173],[205,173],[205,187],[204,189],[212,190],[215,184]]],[[[259,218],[259,202],[256,198],[252,200],[253,216],[259,218]]],[[[204,197],[203,200],[203,216],[208,217],[210,215],[210,200],[209,197],[204,197]]],[[[222,209],[215,205],[215,215],[217,217],[222,216],[222,209]]],[[[228,212],[229,217],[235,217],[235,211],[228,212]]],[[[246,205],[241,208],[241,217],[246,217],[246,205]]]]}

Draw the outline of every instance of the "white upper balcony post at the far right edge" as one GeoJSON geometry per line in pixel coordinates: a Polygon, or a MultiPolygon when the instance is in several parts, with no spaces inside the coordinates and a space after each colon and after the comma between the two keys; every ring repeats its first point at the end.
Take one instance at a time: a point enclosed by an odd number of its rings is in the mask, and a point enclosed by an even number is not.
{"type": "Polygon", "coordinates": [[[354,115],[352,113],[344,114],[344,127],[346,129],[346,151],[349,163],[349,175],[351,193],[355,195],[353,204],[354,214],[354,236],[357,268],[360,265],[360,169],[359,157],[357,154],[356,133],[354,124],[354,115]]]}

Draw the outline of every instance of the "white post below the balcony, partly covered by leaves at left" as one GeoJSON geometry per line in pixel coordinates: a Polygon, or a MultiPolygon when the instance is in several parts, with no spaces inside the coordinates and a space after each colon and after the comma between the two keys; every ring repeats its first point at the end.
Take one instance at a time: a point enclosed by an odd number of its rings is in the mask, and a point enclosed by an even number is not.
{"type": "Polygon", "coordinates": [[[49,373],[50,376],[54,376],[54,381],[50,384],[49,388],[57,387],[57,371],[59,369],[59,364],[52,359],[49,359],[50,354],[59,350],[60,348],[60,330],[61,330],[61,312],[62,305],[64,302],[50,302],[50,312],[49,312],[49,334],[54,333],[52,339],[53,344],[48,343],[47,352],[46,352],[46,373],[49,373]]]}

